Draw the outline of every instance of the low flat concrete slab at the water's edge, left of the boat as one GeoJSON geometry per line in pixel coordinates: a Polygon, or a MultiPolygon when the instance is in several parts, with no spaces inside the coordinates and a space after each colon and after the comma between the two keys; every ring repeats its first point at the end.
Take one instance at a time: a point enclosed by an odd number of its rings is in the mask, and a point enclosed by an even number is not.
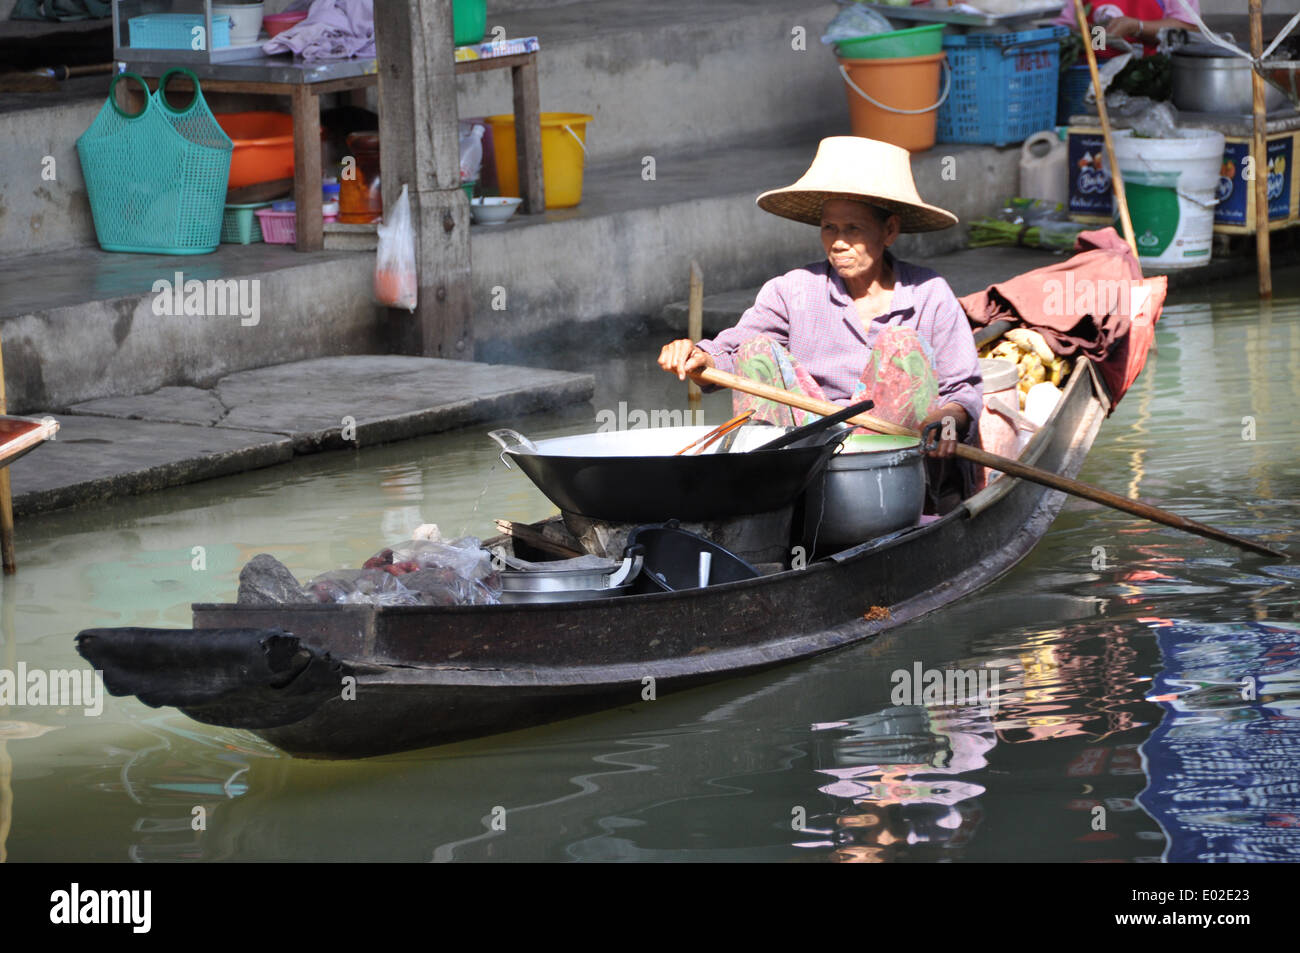
{"type": "Polygon", "coordinates": [[[114,499],[589,400],[590,374],[370,355],[91,400],[12,465],[20,515],[114,499]]]}

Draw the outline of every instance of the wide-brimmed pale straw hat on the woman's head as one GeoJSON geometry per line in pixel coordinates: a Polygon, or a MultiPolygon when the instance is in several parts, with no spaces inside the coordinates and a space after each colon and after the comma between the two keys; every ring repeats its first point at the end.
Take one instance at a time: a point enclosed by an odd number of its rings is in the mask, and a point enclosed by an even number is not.
{"type": "Polygon", "coordinates": [[[907,150],[857,135],[836,135],[816,147],[812,165],[792,186],[758,196],[758,207],[783,218],[822,225],[822,203],[850,199],[893,212],[904,231],[937,231],[957,216],[927,205],[916,194],[907,150]]]}

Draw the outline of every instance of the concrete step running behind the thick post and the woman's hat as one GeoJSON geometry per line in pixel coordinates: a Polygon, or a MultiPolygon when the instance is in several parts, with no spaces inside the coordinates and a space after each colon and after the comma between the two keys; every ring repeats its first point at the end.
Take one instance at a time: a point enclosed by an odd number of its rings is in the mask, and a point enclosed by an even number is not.
{"type": "MultiPolygon", "coordinates": [[[[814,260],[815,230],[760,212],[754,199],[793,182],[815,148],[807,139],[681,153],[659,163],[654,179],[642,177],[636,159],[597,163],[577,208],[473,226],[478,358],[519,360],[536,335],[564,324],[658,315],[685,295],[692,259],[710,289],[724,290],[814,260]]],[[[914,170],[923,196],[965,218],[1015,191],[1015,156],[953,147],[918,155],[914,170]]],[[[906,257],[961,242],[961,229],[950,229],[905,237],[897,247],[906,257]]],[[[307,255],[270,244],[221,246],[203,256],[74,248],[0,259],[9,406],[66,408],[211,385],[269,363],[390,351],[391,319],[372,303],[373,263],[370,254],[307,255]],[[231,302],[224,309],[205,304],[213,312],[205,317],[166,313],[169,302],[176,309],[178,272],[183,281],[235,281],[244,304],[256,294],[259,313],[242,315],[231,302]]]]}

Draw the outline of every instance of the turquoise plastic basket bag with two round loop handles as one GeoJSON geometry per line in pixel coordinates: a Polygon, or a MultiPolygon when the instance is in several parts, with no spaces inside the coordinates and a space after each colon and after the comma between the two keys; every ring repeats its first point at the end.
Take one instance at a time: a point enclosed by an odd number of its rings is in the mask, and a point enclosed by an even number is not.
{"type": "Polygon", "coordinates": [[[212,117],[187,69],[172,69],[157,92],[134,73],[113,77],[90,129],[77,140],[95,235],[104,251],[205,255],[221,241],[231,142],[212,117]],[[173,109],[168,79],[187,75],[194,100],[173,109]],[[146,92],[144,108],[126,113],[114,98],[129,77],[146,92]]]}

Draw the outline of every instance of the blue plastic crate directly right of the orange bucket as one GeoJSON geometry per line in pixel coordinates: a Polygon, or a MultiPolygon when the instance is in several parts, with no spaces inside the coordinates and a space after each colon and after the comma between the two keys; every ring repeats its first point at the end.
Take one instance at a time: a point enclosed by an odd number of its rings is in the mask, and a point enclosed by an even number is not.
{"type": "Polygon", "coordinates": [[[1063,26],[945,36],[952,91],[939,142],[1009,146],[1056,125],[1063,26]]]}

